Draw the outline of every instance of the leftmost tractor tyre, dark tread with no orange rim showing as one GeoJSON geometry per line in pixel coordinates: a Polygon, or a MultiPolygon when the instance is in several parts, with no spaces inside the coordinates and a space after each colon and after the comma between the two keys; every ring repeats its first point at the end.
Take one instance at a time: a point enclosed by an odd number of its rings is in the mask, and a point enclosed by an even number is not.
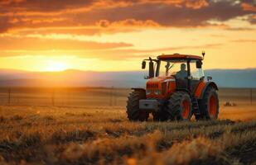
{"type": "Polygon", "coordinates": [[[143,91],[133,91],[130,93],[127,101],[128,120],[144,121],[147,120],[149,113],[139,109],[139,100],[145,99],[146,93],[143,91]]]}

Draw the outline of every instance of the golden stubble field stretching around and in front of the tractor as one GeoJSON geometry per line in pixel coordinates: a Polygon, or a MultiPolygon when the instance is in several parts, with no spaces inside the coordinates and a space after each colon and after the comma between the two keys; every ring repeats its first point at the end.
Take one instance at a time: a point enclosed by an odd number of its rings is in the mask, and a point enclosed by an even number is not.
{"type": "Polygon", "coordinates": [[[256,164],[256,106],[228,91],[220,104],[238,105],[200,122],[129,122],[127,90],[80,107],[2,105],[0,164],[256,164]]]}

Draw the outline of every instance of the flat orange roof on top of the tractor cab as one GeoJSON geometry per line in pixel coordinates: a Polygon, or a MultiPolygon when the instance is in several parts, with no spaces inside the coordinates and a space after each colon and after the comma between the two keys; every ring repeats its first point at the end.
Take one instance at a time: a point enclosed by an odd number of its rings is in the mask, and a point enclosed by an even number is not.
{"type": "Polygon", "coordinates": [[[159,55],[157,57],[157,59],[160,59],[160,60],[179,60],[179,59],[199,59],[199,60],[203,60],[202,57],[200,56],[197,56],[197,55],[188,55],[188,54],[162,54],[162,55],[159,55]]]}

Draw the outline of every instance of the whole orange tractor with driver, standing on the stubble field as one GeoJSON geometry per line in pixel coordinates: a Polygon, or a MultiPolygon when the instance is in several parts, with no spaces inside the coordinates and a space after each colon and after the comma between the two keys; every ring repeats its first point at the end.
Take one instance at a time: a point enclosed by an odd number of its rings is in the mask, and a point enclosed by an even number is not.
{"type": "Polygon", "coordinates": [[[127,101],[129,120],[215,120],[219,114],[218,87],[205,80],[203,57],[186,54],[162,54],[148,61],[146,89],[133,88],[127,101]]]}

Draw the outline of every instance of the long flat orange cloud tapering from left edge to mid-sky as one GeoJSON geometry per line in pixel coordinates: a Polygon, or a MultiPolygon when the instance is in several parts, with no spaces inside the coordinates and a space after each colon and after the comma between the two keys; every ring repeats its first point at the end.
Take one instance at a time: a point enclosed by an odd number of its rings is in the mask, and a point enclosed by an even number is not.
{"type": "Polygon", "coordinates": [[[53,40],[39,37],[0,37],[0,50],[111,50],[131,47],[128,43],[100,43],[80,40],[53,40]]]}

